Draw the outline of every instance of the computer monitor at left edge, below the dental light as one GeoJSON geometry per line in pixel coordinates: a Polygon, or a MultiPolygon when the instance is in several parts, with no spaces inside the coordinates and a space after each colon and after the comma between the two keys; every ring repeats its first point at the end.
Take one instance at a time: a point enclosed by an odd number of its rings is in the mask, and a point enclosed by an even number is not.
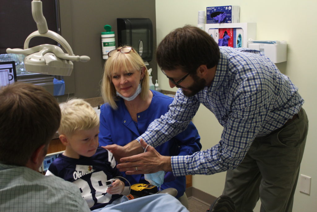
{"type": "Polygon", "coordinates": [[[0,87],[16,82],[16,64],[14,61],[0,62],[0,87]]]}

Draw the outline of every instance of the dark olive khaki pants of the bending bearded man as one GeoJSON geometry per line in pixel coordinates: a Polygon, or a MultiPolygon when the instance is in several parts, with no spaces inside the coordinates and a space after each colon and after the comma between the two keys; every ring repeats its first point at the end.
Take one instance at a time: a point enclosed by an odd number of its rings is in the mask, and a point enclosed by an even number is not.
{"type": "Polygon", "coordinates": [[[224,195],[237,212],[253,211],[261,200],[261,212],[292,211],[308,131],[304,109],[298,118],[274,132],[257,137],[242,163],[226,175],[224,195]]]}

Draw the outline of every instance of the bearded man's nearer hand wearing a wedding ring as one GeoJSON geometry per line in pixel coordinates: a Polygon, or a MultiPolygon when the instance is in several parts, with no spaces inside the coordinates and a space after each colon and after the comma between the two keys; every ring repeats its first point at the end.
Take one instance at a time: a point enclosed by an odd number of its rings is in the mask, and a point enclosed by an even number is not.
{"type": "MultiPolygon", "coordinates": [[[[147,143],[141,139],[140,144],[146,148],[147,143]]],[[[172,171],[171,157],[159,154],[154,147],[147,147],[145,153],[120,159],[117,168],[126,174],[150,174],[160,170],[172,171]]]]}

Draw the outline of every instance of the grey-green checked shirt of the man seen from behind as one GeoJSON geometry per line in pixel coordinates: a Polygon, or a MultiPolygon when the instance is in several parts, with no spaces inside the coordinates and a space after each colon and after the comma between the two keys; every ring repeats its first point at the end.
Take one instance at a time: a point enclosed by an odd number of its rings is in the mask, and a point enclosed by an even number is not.
{"type": "Polygon", "coordinates": [[[0,163],[0,211],[90,211],[79,188],[30,168],[0,163]]]}

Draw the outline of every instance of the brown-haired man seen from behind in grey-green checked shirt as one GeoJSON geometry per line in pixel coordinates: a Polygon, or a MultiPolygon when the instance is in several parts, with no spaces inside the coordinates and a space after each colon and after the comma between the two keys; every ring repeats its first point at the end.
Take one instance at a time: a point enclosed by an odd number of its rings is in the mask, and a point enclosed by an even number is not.
{"type": "Polygon", "coordinates": [[[21,82],[0,88],[0,211],[89,211],[77,186],[38,172],[60,120],[44,88],[21,82]]]}

